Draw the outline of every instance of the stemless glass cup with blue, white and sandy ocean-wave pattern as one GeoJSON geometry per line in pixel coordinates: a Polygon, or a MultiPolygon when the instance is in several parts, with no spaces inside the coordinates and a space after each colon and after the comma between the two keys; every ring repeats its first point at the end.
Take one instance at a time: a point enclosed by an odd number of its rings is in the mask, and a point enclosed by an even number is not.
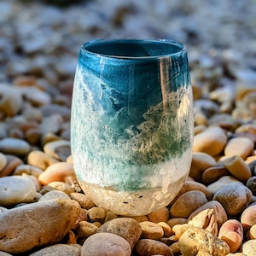
{"type": "Polygon", "coordinates": [[[71,116],[73,165],[84,193],[121,215],[166,207],[189,173],[192,103],[182,44],[137,39],[84,44],[71,116]]]}

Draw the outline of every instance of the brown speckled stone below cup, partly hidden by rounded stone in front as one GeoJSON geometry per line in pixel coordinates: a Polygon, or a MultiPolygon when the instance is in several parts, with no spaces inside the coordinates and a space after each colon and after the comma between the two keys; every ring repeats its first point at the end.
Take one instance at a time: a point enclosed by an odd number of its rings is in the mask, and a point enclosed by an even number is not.
{"type": "Polygon", "coordinates": [[[97,232],[108,232],[122,236],[129,242],[131,249],[133,249],[142,235],[143,229],[133,218],[113,218],[102,224],[97,232]]]}

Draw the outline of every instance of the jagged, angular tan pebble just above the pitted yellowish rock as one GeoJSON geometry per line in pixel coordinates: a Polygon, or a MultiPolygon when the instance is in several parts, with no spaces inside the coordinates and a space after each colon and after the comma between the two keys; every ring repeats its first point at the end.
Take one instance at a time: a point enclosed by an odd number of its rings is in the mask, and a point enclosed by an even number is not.
{"type": "Polygon", "coordinates": [[[218,235],[217,213],[211,208],[198,212],[195,217],[189,220],[189,224],[197,228],[208,230],[212,235],[218,235]]]}

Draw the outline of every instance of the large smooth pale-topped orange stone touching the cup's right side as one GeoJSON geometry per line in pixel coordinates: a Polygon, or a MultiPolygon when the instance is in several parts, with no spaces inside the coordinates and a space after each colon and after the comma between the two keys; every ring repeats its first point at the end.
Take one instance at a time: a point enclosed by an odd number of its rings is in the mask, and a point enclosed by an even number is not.
{"type": "Polygon", "coordinates": [[[215,156],[224,150],[226,143],[227,136],[224,131],[218,126],[212,126],[195,135],[193,151],[215,156]]]}

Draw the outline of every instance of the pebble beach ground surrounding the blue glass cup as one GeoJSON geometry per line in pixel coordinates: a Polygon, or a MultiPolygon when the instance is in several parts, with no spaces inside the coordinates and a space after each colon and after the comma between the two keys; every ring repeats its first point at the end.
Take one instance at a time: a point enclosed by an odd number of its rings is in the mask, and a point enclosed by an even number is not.
{"type": "Polygon", "coordinates": [[[0,2],[0,256],[256,255],[256,2],[47,2],[0,2]],[[147,216],[96,207],[76,181],[73,76],[94,38],[172,38],[189,53],[189,177],[147,216]]]}

